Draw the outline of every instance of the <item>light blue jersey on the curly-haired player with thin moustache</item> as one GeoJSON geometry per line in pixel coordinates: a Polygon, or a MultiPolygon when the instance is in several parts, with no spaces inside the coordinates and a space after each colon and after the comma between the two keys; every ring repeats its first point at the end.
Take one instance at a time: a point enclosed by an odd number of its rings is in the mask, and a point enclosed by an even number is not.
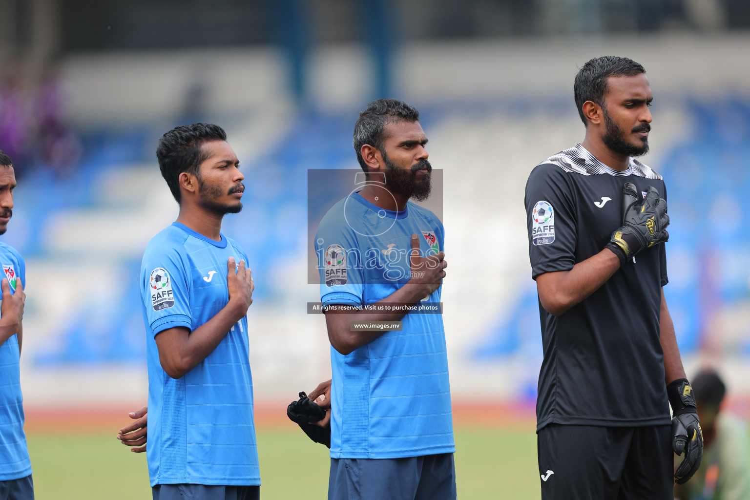
{"type": "Polygon", "coordinates": [[[224,235],[213,241],[176,222],[154,236],[143,255],[151,486],[260,484],[247,318],[181,379],[164,372],[154,340],[167,328],[193,331],[226,306],[230,256],[248,262],[235,241],[224,235]]]}

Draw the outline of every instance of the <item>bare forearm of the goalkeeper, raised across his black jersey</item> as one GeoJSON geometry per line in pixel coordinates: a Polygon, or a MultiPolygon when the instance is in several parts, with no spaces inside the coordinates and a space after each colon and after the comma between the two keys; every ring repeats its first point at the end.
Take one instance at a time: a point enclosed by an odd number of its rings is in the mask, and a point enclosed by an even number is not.
{"type": "Polygon", "coordinates": [[[619,257],[607,248],[578,262],[570,271],[556,271],[536,277],[541,307],[552,316],[565,313],[607,283],[619,269],[619,257]]]}

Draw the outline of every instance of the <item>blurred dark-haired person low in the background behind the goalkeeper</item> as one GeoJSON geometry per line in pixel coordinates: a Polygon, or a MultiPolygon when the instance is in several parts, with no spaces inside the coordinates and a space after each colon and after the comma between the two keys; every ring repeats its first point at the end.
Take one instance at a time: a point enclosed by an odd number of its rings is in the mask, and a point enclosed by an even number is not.
{"type": "Polygon", "coordinates": [[[703,370],[694,376],[693,391],[703,427],[703,462],[690,481],[676,485],[675,498],[750,499],[747,424],[721,410],[726,387],[715,371],[703,370]]]}

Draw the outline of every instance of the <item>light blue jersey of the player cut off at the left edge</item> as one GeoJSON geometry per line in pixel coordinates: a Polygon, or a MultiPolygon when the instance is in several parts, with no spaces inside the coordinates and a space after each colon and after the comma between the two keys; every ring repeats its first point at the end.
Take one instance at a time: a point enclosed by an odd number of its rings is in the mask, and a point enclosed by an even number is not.
{"type": "MultiPolygon", "coordinates": [[[[15,278],[26,288],[26,264],[15,248],[0,242],[3,274],[16,292],[15,278]]],[[[18,337],[11,335],[0,346],[0,481],[26,478],[31,474],[26,434],[23,432],[23,394],[18,366],[18,337]]]]}

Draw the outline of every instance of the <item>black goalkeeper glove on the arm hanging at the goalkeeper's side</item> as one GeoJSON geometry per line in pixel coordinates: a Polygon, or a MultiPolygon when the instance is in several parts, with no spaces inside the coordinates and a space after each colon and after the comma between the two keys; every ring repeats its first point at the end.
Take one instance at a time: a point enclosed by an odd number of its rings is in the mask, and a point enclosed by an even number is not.
{"type": "Polygon", "coordinates": [[[677,379],[667,385],[667,397],[672,406],[672,449],[677,455],[685,452],[674,478],[683,484],[692,478],[703,457],[703,430],[700,429],[693,388],[688,379],[677,379]]]}

